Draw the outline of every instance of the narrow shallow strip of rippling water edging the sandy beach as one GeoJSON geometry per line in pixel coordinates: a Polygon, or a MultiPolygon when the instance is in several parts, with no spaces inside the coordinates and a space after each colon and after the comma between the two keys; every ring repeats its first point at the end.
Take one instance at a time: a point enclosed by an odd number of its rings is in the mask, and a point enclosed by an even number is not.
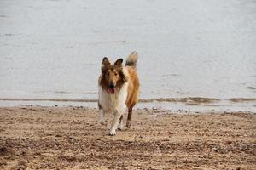
{"type": "MultiPolygon", "coordinates": [[[[97,99],[26,99],[0,98],[0,107],[13,106],[83,106],[97,108],[97,99]]],[[[203,97],[140,99],[136,108],[171,111],[249,111],[256,113],[255,98],[215,99],[203,97]]]]}

